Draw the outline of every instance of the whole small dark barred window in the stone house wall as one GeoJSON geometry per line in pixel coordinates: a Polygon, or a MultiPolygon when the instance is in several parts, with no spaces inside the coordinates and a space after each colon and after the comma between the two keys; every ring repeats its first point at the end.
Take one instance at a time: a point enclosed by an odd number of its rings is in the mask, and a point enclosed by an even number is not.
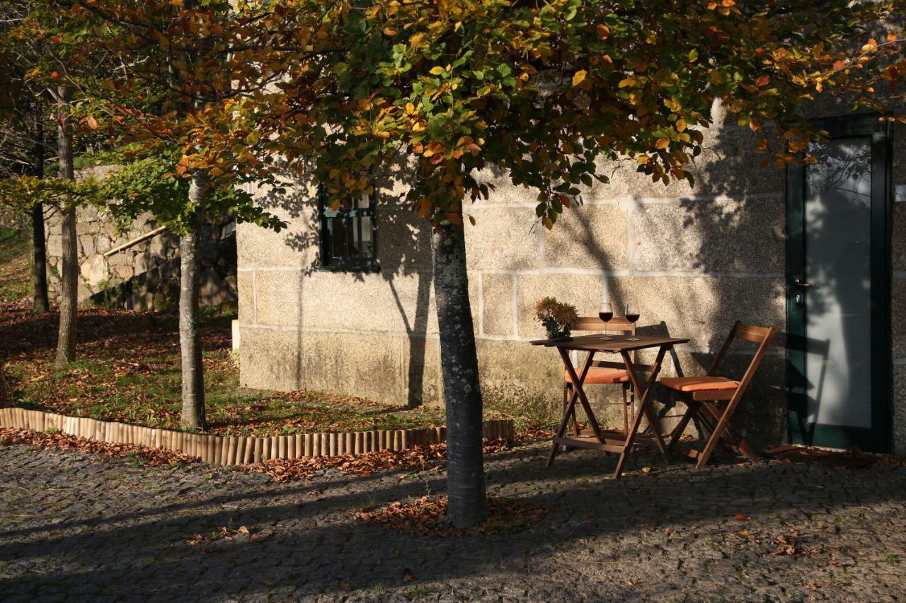
{"type": "Polygon", "coordinates": [[[344,199],[337,209],[318,190],[323,270],[377,272],[377,221],[374,196],[344,199]]]}

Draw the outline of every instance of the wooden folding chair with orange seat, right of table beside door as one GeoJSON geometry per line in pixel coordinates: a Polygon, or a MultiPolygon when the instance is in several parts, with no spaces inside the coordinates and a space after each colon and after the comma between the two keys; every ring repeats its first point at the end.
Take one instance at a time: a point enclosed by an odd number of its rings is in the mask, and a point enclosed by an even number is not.
{"type": "Polygon", "coordinates": [[[704,377],[669,377],[661,378],[660,384],[665,388],[672,389],[679,393],[679,399],[688,407],[686,413],[679,420],[679,424],[670,432],[669,450],[689,456],[697,461],[696,466],[699,469],[708,463],[708,457],[714,451],[714,446],[718,442],[726,445],[737,455],[746,455],[753,463],[759,461],[758,456],[752,447],[749,446],[741,436],[730,425],[730,417],[739,404],[740,398],[746,392],[748,384],[752,381],[758,365],[765,357],[767,347],[776,337],[777,330],[775,327],[757,327],[755,325],[743,324],[737,321],[730,330],[727,341],[718,351],[708,374],[704,377]],[[734,340],[747,340],[757,343],[758,348],[752,361],[749,363],[742,379],[734,380],[731,378],[720,377],[717,374],[720,361],[727,355],[727,351],[734,340]],[[718,406],[719,401],[727,401],[723,410],[718,406]],[[704,411],[707,411],[704,412],[704,411]],[[682,436],[686,426],[693,417],[698,417],[702,426],[710,431],[710,436],[701,452],[679,444],[679,438],[682,436]]]}

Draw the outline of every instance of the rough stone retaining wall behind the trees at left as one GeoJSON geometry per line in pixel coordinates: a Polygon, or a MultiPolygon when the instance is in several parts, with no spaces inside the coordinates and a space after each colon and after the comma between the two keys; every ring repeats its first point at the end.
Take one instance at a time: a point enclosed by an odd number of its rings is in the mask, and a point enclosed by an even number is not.
{"type": "MultiPolygon", "coordinates": [[[[77,177],[103,177],[112,167],[80,170],[77,177]]],[[[133,310],[175,310],[179,297],[179,237],[163,231],[139,244],[105,255],[158,227],[154,217],[140,215],[125,232],[97,207],[77,210],[79,302],[133,310]]],[[[47,210],[48,289],[59,294],[62,238],[60,215],[47,210]]],[[[201,302],[236,302],[236,225],[225,219],[210,225],[202,244],[201,302]]]]}

